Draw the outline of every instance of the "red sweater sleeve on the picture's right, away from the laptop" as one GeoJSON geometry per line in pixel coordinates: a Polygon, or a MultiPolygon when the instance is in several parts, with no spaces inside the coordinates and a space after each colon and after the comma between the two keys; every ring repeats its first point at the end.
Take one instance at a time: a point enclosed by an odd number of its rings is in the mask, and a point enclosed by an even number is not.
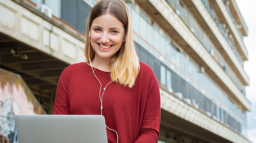
{"type": "MultiPolygon", "coordinates": [[[[152,70],[152,69],[151,69],[152,70]]],[[[142,124],[136,143],[158,142],[160,127],[160,91],[157,78],[152,71],[142,124]]]]}

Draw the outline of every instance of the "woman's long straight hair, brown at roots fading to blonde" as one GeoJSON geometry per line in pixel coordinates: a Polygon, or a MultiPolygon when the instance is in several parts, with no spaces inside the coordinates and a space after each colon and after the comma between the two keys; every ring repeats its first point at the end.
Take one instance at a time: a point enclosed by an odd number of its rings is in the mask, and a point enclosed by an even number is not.
{"type": "MultiPolygon", "coordinates": [[[[116,79],[116,82],[132,88],[139,73],[140,64],[133,42],[132,20],[129,9],[122,0],[99,1],[92,8],[89,14],[86,31],[87,39],[89,39],[89,32],[91,30],[93,20],[103,14],[114,15],[119,21],[123,23],[123,28],[125,31],[125,42],[122,43],[121,48],[113,55],[113,58],[109,63],[111,79],[116,79]]],[[[89,45],[89,40],[86,40],[84,55],[86,56],[86,62],[88,64],[90,63],[89,54],[90,59],[93,60],[95,51],[93,50],[92,45],[89,45]]]]}

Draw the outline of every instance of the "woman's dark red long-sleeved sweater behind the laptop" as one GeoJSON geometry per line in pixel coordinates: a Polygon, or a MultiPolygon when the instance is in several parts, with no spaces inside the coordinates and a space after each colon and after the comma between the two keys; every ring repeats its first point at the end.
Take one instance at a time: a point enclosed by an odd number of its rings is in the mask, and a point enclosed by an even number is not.
{"type": "MultiPolygon", "coordinates": [[[[111,81],[110,72],[94,69],[102,84],[101,94],[111,81]]],[[[100,115],[100,84],[91,67],[82,62],[63,70],[55,96],[55,115],[100,115]]],[[[153,70],[140,62],[132,89],[112,82],[103,95],[102,115],[106,126],[118,133],[120,143],[158,142],[160,92],[153,70]]],[[[114,131],[106,129],[109,142],[117,142],[114,131]]]]}

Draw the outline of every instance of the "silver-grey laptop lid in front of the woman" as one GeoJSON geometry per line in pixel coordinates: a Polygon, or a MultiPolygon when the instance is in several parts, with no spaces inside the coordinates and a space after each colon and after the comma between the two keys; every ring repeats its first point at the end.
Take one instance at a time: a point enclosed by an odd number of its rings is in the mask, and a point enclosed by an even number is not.
{"type": "Polygon", "coordinates": [[[101,115],[16,115],[19,143],[108,143],[101,115]]]}

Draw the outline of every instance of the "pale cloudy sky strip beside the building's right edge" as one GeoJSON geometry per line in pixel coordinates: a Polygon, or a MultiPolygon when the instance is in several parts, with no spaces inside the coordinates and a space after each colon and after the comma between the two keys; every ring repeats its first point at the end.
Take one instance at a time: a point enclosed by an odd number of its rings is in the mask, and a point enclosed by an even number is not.
{"type": "Polygon", "coordinates": [[[245,91],[247,99],[251,102],[251,111],[247,112],[247,130],[249,140],[256,143],[256,0],[236,2],[248,27],[248,36],[244,37],[249,59],[244,63],[244,69],[250,78],[250,85],[245,91]]]}

